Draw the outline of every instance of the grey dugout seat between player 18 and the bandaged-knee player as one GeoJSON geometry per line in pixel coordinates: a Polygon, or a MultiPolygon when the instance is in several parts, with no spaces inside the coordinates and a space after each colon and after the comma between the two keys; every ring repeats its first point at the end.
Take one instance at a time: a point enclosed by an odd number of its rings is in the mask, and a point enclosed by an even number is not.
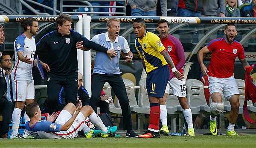
{"type": "Polygon", "coordinates": [[[196,79],[187,79],[187,99],[192,114],[199,114],[200,111],[210,113],[210,107],[207,105],[204,96],[204,84],[196,79]]]}

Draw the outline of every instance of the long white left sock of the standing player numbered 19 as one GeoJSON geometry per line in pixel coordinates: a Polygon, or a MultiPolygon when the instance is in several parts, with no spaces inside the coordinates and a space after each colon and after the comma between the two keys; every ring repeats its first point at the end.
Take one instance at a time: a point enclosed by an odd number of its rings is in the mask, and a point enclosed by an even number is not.
{"type": "Polygon", "coordinates": [[[20,113],[21,109],[14,108],[12,113],[12,134],[13,136],[17,135],[20,125],[20,113]]]}

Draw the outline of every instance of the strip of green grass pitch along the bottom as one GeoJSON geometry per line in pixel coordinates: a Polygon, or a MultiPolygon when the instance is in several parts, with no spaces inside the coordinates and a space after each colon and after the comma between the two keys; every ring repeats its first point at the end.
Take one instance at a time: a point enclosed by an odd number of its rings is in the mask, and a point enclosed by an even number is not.
{"type": "Polygon", "coordinates": [[[0,148],[255,148],[256,135],[161,138],[0,139],[0,148]]]}

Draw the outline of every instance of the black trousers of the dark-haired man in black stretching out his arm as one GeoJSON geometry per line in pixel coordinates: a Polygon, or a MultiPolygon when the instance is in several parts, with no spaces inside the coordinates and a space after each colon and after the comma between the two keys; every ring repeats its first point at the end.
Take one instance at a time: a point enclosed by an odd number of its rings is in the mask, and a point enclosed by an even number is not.
{"type": "Polygon", "coordinates": [[[59,92],[64,87],[66,104],[72,102],[76,105],[78,76],[48,76],[47,79],[47,113],[50,115],[58,111],[59,92]],[[48,81],[49,80],[49,81],[48,81]]]}

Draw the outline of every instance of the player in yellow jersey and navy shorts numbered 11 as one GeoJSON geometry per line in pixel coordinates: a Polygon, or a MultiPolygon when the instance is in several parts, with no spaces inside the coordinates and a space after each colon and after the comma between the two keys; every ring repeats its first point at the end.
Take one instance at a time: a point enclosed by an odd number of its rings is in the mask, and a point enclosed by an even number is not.
{"type": "Polygon", "coordinates": [[[172,72],[179,80],[184,79],[184,75],[176,70],[172,58],[165,50],[160,38],[152,32],[146,31],[145,22],[141,18],[136,18],[133,23],[136,35],[135,47],[142,59],[143,67],[147,73],[146,87],[150,102],[148,131],[140,135],[140,138],[160,138],[159,99],[163,97],[167,82],[169,80],[169,64],[172,72]]]}

